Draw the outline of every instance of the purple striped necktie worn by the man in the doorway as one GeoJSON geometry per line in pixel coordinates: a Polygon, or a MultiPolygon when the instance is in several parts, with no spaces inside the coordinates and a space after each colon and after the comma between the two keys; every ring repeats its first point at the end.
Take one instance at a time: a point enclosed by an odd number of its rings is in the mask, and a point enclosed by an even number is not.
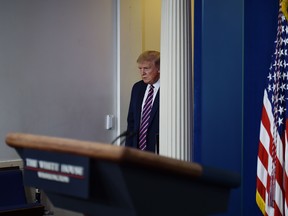
{"type": "Polygon", "coordinates": [[[149,92],[147,98],[145,100],[144,107],[142,109],[142,117],[140,124],[140,132],[139,132],[139,149],[145,150],[147,147],[147,129],[150,118],[150,113],[153,105],[153,94],[154,94],[154,86],[150,85],[149,92]]]}

